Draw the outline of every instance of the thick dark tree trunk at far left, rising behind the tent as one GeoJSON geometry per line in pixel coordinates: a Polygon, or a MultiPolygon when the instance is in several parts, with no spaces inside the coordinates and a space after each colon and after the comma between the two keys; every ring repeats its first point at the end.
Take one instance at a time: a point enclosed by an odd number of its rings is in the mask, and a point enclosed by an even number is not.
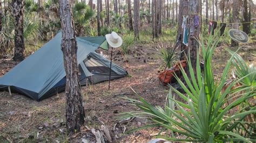
{"type": "Polygon", "coordinates": [[[14,60],[22,61],[25,58],[25,46],[23,36],[24,0],[12,0],[12,15],[14,16],[14,60]]]}

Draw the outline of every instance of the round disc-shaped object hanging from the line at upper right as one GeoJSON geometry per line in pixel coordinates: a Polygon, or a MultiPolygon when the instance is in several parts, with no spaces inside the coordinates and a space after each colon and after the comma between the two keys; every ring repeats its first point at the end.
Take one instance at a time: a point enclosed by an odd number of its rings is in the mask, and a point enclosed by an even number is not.
{"type": "Polygon", "coordinates": [[[236,41],[240,43],[247,43],[248,42],[248,35],[244,31],[236,30],[236,29],[231,29],[228,31],[228,35],[236,41]]]}

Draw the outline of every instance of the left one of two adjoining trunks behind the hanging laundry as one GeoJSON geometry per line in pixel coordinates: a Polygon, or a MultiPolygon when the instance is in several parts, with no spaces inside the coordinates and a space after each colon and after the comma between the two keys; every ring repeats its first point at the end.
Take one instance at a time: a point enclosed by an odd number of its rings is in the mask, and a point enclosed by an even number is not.
{"type": "Polygon", "coordinates": [[[181,44],[181,55],[180,60],[186,60],[185,54],[187,54],[187,48],[186,45],[183,44],[183,28],[181,27],[183,22],[183,16],[186,16],[188,14],[188,0],[179,0],[179,20],[178,20],[178,38],[181,38],[180,44],[181,44]]]}

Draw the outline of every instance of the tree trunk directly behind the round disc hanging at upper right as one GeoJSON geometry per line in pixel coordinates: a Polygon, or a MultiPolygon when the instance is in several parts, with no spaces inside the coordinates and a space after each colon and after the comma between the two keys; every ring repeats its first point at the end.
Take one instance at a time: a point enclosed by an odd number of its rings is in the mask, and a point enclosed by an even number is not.
{"type": "MultiPolygon", "coordinates": [[[[238,0],[233,0],[233,8],[232,8],[232,18],[233,18],[233,28],[234,29],[238,29],[238,5],[239,5],[239,1],[238,0]]],[[[238,46],[238,42],[235,42],[233,40],[231,40],[231,46],[235,47],[238,46]]]]}

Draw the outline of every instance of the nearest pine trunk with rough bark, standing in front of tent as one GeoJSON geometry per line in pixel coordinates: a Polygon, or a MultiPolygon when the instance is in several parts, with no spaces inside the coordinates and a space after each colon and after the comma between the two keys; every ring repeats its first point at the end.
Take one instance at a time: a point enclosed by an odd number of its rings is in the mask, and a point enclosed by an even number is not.
{"type": "Polygon", "coordinates": [[[62,52],[66,71],[66,129],[70,135],[84,125],[85,112],[77,63],[77,41],[69,0],[59,0],[62,25],[62,52]]]}

